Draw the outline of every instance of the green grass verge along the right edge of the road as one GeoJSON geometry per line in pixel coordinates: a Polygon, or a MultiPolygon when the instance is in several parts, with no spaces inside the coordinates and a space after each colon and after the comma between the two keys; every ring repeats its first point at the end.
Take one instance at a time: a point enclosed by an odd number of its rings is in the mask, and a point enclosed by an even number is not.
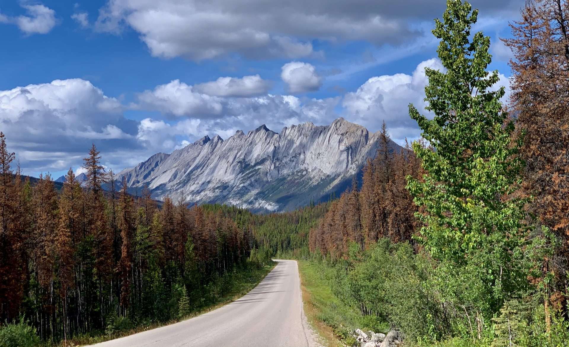
{"type": "Polygon", "coordinates": [[[298,261],[304,313],[329,347],[356,344],[352,329],[365,328],[363,317],[332,292],[334,270],[311,261],[298,261]]]}

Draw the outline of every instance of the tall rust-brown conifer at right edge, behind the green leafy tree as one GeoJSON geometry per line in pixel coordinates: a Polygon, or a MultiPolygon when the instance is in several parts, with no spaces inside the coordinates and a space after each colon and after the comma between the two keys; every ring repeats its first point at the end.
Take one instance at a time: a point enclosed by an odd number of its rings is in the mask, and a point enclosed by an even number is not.
{"type": "Polygon", "coordinates": [[[523,137],[522,192],[533,196],[530,211],[560,240],[552,283],[555,304],[567,308],[569,288],[569,2],[526,2],[521,20],[512,23],[512,39],[504,40],[515,59],[512,103],[523,137]]]}

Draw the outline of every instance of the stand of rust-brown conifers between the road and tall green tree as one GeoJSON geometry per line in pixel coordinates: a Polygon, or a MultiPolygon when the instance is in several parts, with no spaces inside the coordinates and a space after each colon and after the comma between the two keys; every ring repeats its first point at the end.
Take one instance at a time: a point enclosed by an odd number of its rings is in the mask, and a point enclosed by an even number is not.
{"type": "Polygon", "coordinates": [[[409,144],[400,152],[390,148],[384,123],[377,155],[364,167],[361,190],[354,177],[351,189],[332,201],[318,227],[310,232],[310,250],[338,259],[348,256],[351,243],[363,250],[380,238],[412,241],[417,208],[405,177],[419,177],[420,172],[420,162],[409,144]]]}

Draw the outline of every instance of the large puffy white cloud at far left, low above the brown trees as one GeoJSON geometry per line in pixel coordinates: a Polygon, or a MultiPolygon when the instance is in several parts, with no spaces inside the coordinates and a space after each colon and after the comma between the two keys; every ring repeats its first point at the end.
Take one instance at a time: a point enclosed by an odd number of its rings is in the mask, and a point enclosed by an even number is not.
{"type": "Polygon", "coordinates": [[[128,152],[136,122],[122,110],[116,98],[81,79],[0,90],[0,129],[23,167],[35,171],[75,167],[93,142],[102,151],[128,152]]]}

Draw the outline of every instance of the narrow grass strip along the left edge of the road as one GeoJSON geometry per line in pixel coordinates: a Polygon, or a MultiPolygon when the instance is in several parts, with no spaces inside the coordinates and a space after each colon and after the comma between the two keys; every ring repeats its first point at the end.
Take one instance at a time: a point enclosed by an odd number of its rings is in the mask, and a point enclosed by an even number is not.
{"type": "Polygon", "coordinates": [[[253,268],[248,269],[248,271],[236,271],[232,275],[232,286],[230,287],[229,291],[226,291],[225,294],[222,294],[218,300],[211,304],[207,305],[207,307],[201,307],[193,312],[191,312],[188,316],[184,317],[183,319],[178,320],[170,320],[166,322],[160,323],[152,323],[152,324],[145,324],[139,325],[138,327],[125,329],[119,332],[116,332],[112,335],[105,334],[103,331],[92,331],[88,334],[74,336],[73,338],[67,341],[61,341],[59,344],[51,344],[50,342],[44,342],[42,346],[44,347],[75,347],[75,346],[84,346],[84,345],[92,345],[98,344],[99,342],[105,342],[109,340],[114,340],[115,338],[129,336],[135,333],[164,327],[165,325],[175,324],[180,321],[188,320],[193,317],[203,315],[209,311],[213,311],[214,309],[220,308],[232,301],[235,301],[241,296],[244,296],[249,291],[251,291],[254,287],[259,284],[265,278],[267,274],[277,265],[276,262],[271,262],[269,265],[265,265],[261,268],[253,268]]]}

